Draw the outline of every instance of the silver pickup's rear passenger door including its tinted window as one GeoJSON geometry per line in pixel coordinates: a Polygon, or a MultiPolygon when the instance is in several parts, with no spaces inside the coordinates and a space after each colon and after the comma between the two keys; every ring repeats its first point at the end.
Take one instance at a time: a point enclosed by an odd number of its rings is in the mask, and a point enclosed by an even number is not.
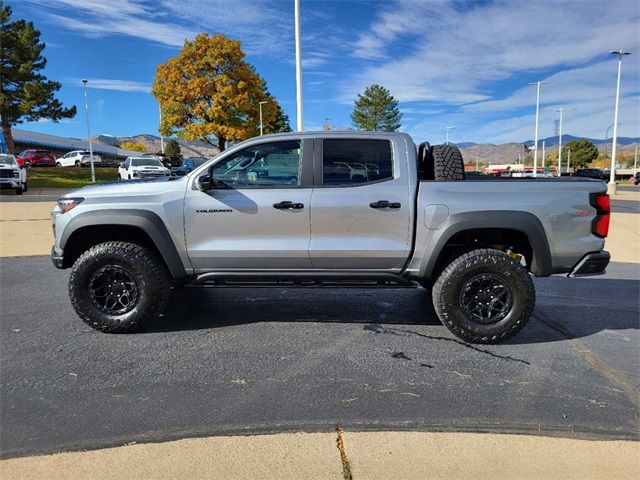
{"type": "Polygon", "coordinates": [[[404,266],[411,249],[413,190],[402,138],[316,140],[309,247],[314,268],[404,266]]]}

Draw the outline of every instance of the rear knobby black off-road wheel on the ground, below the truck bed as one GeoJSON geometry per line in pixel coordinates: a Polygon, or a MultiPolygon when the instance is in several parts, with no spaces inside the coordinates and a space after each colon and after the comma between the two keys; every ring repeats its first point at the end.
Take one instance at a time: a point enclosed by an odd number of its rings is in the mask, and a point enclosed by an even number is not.
{"type": "Polygon", "coordinates": [[[494,249],[472,250],[453,260],[433,286],[442,323],[471,343],[500,343],[518,333],[535,307],[527,270],[494,249]]]}

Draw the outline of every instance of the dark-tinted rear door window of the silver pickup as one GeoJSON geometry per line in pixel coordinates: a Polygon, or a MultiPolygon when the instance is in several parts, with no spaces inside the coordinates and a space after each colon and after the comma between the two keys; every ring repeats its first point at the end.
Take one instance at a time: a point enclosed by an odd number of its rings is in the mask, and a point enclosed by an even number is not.
{"type": "Polygon", "coordinates": [[[327,139],[322,142],[322,184],[349,186],[393,178],[391,143],[376,139],[327,139]]]}

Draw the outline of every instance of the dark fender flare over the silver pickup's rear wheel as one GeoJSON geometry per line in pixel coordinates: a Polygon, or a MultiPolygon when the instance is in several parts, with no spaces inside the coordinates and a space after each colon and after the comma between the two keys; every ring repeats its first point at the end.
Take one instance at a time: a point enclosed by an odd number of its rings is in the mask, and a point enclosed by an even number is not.
{"type": "Polygon", "coordinates": [[[536,277],[548,277],[553,273],[551,250],[547,234],[540,219],[533,213],[514,210],[486,210],[450,215],[431,238],[433,248],[429,258],[420,268],[420,278],[431,278],[445,245],[457,233],[465,230],[500,228],[523,233],[533,249],[531,272],[536,277]]]}

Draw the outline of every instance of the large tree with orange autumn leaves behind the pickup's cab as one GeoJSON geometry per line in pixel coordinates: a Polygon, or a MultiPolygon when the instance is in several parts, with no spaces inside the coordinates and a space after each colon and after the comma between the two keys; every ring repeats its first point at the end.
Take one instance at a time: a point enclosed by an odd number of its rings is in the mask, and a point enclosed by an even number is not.
{"type": "Polygon", "coordinates": [[[278,104],[244,56],[240,41],[201,33],[158,65],[152,92],[162,112],[160,133],[224,150],[228,140],[259,133],[261,101],[267,101],[263,122],[271,124],[278,104]]]}

